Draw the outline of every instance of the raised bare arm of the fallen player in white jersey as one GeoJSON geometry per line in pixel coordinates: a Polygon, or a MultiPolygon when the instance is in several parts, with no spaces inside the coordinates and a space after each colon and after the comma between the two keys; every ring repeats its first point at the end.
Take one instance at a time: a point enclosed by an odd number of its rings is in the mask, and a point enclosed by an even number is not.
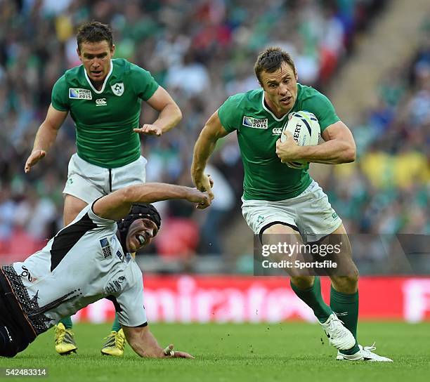
{"type": "Polygon", "coordinates": [[[130,185],[101,197],[94,203],[93,211],[100,218],[119,220],[129,213],[133,203],[153,203],[169,199],[188,200],[197,204],[197,209],[204,209],[211,204],[207,192],[200,192],[195,188],[167,183],[145,183],[130,185]]]}

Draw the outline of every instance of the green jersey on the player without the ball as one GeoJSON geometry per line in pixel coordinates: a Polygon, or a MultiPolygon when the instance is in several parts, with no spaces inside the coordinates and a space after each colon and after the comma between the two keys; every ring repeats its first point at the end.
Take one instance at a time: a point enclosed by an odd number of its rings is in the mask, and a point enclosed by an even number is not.
{"type": "Polygon", "coordinates": [[[125,166],[141,155],[138,127],[142,100],[158,88],[150,72],[117,58],[97,91],[84,65],[67,70],[53,86],[51,103],[70,112],[76,126],[77,154],[107,169],[125,166]]]}

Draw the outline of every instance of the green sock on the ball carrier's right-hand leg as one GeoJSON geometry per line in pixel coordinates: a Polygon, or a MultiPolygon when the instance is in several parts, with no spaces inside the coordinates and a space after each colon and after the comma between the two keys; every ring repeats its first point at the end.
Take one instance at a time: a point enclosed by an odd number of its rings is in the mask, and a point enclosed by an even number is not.
{"type": "Polygon", "coordinates": [[[359,350],[357,342],[358,291],[353,294],[344,294],[332,286],[330,289],[330,308],[336,312],[339,320],[344,322],[345,327],[356,338],[356,345],[349,350],[340,350],[341,353],[346,355],[357,353],[359,350]]]}

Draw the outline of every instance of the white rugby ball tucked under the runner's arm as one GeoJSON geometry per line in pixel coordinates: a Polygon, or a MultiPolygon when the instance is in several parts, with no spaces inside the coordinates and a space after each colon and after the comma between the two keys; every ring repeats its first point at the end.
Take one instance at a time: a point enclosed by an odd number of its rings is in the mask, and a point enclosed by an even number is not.
{"type": "MultiPolygon", "coordinates": [[[[321,142],[321,129],[317,117],[311,112],[292,112],[288,116],[287,124],[282,129],[281,142],[285,142],[287,136],[284,131],[292,133],[294,140],[299,146],[316,146],[321,142]]],[[[307,162],[288,162],[287,166],[292,169],[304,169],[307,162]]]]}

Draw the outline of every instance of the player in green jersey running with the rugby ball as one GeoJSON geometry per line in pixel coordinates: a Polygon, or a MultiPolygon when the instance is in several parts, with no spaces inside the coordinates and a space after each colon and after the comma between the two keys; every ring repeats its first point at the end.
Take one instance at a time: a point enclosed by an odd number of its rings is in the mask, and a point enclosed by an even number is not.
{"type": "Polygon", "coordinates": [[[287,268],[292,289],[312,308],[330,344],[338,349],[337,360],[390,362],[373,353],[373,346],[363,348],[358,344],[358,270],[341,219],[309,176],[308,166],[292,169],[285,165],[294,161],[353,162],[356,145],[351,131],[325,95],[297,82],[288,53],[268,48],[257,58],[254,70],[261,88],[228,98],[202,129],[194,147],[193,181],[200,191],[213,197],[204,168],[216,141],[236,131],[245,169],[242,213],[249,228],[266,245],[279,244],[279,235],[288,238],[289,244],[339,244],[344,272],[327,272],[331,279],[330,306],[321,296],[319,277],[287,268]],[[291,134],[280,142],[288,114],[300,110],[318,118],[324,143],[301,147],[291,134]]]}

